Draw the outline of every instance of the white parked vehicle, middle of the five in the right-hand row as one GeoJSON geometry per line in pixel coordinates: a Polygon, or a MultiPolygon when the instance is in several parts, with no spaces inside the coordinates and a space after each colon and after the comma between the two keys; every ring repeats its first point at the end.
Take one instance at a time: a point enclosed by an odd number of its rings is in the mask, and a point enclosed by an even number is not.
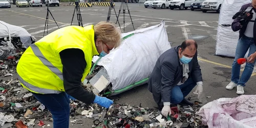
{"type": "Polygon", "coordinates": [[[169,3],[170,10],[174,10],[176,8],[183,10],[190,8],[191,3],[195,2],[195,0],[173,0],[169,3]]]}

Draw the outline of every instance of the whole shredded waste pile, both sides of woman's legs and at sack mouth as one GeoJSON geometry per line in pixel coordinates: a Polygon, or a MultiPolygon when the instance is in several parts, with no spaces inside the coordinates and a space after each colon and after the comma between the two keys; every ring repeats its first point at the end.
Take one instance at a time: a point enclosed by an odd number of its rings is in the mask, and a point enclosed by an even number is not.
{"type": "MultiPolygon", "coordinates": [[[[44,121],[53,121],[51,113],[44,104],[24,89],[15,77],[16,65],[22,54],[9,56],[0,60],[0,127],[33,127],[49,126],[44,121]],[[5,79],[9,76],[10,79],[5,79]]],[[[96,66],[90,80],[101,70],[101,66],[96,66]]],[[[84,84],[84,89],[97,93],[93,86],[84,84]]],[[[111,83],[104,91],[111,90],[111,83]]],[[[98,93],[101,95],[102,93],[98,93]]],[[[194,106],[173,106],[172,114],[168,117],[161,115],[158,109],[147,108],[146,106],[113,104],[109,109],[103,109],[96,103],[85,104],[71,98],[70,122],[84,125],[84,118],[91,119],[92,127],[207,127],[202,125],[200,116],[195,113],[199,111],[201,102],[196,101],[194,106]]]]}

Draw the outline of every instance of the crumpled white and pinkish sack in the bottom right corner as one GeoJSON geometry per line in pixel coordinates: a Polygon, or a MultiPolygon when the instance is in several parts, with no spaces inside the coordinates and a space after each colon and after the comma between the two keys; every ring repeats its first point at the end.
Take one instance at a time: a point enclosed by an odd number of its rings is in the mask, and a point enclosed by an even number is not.
{"type": "Polygon", "coordinates": [[[197,113],[209,128],[256,127],[256,95],[220,98],[202,106],[197,113]]]}

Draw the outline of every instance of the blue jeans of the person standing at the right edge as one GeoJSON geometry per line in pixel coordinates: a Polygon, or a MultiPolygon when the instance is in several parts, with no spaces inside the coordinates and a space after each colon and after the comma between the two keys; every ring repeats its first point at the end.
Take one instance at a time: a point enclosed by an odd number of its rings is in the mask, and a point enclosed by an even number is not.
{"type": "Polygon", "coordinates": [[[242,36],[238,40],[238,45],[237,45],[237,49],[236,49],[236,56],[235,56],[233,64],[232,64],[231,81],[234,82],[234,83],[237,83],[238,85],[243,86],[243,87],[245,86],[245,83],[251,77],[255,61],[253,63],[247,63],[246,62],[246,65],[245,65],[244,71],[242,73],[242,76],[239,79],[241,65],[238,64],[237,59],[244,58],[248,49],[249,49],[249,54],[248,54],[248,57],[249,57],[256,50],[256,47],[255,47],[254,42],[253,42],[253,38],[250,38],[250,37],[247,37],[247,36],[242,36]]]}

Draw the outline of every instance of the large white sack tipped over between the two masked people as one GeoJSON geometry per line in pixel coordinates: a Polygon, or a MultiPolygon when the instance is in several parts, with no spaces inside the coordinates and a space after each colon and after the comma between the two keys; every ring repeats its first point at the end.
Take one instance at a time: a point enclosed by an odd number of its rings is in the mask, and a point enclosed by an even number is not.
{"type": "MultiPolygon", "coordinates": [[[[97,65],[108,72],[114,91],[150,76],[158,57],[171,48],[164,25],[161,22],[156,26],[122,33],[122,37],[134,35],[124,39],[118,49],[98,61],[97,65]]],[[[93,62],[98,58],[94,56],[93,62]]]]}

